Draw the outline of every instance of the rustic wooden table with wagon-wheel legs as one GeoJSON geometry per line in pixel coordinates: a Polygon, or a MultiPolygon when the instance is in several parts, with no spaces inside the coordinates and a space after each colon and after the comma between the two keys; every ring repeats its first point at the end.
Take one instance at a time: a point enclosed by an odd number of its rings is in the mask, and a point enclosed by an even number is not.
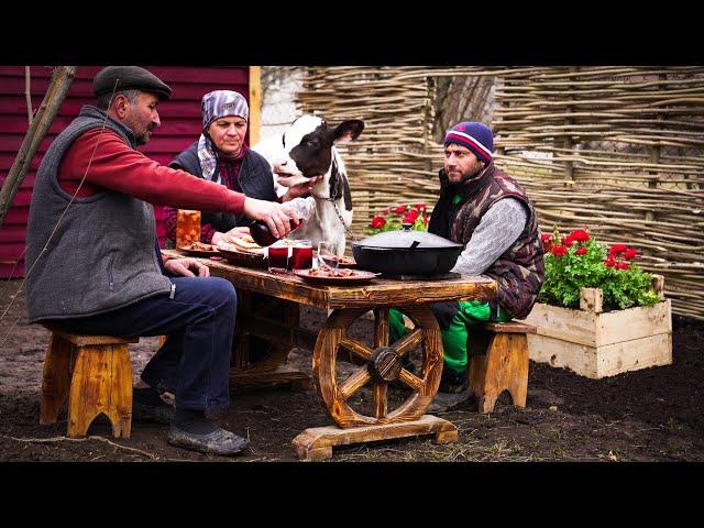
{"type": "MultiPolygon", "coordinates": [[[[168,256],[183,256],[178,250],[162,250],[168,256]]],[[[227,261],[199,258],[211,276],[230,280],[238,288],[238,322],[231,382],[296,381],[297,373],[284,365],[293,346],[312,350],[314,382],[318,395],[338,427],[306,429],[294,439],[302,459],[332,457],[332,446],[383,440],[417,435],[436,436],[437,442],[457,440],[457,428],[424,413],[432,402],[442,373],[440,329],[428,304],[446,300],[490,300],[496,296],[496,283],[486,277],[462,276],[447,280],[406,282],[375,278],[369,284],[351,286],[314,285],[294,274],[272,274],[229,264],[227,261]],[[285,302],[286,323],[266,317],[271,307],[252,307],[251,294],[265,294],[285,302]],[[314,332],[299,327],[299,305],[332,310],[323,327],[314,332]],[[407,316],[414,328],[400,340],[389,343],[388,310],[396,308],[407,316]],[[374,311],[374,342],[362,343],[346,334],[356,319],[374,311]],[[280,346],[256,364],[250,364],[246,334],[254,334],[280,346]],[[403,367],[403,358],[422,348],[420,372],[403,367]],[[341,378],[338,360],[358,365],[341,378]],[[389,383],[400,383],[409,396],[396,408],[388,408],[389,383]],[[353,409],[349,398],[371,384],[373,413],[353,409]]],[[[274,302],[272,302],[272,306],[274,302]]],[[[306,376],[307,378],[307,376],[306,376]]]]}

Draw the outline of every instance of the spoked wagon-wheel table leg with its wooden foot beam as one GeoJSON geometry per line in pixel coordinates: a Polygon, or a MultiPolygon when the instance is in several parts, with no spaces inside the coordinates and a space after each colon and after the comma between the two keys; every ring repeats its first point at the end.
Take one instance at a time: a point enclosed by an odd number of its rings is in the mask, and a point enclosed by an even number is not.
{"type": "Polygon", "coordinates": [[[441,418],[424,416],[438,392],[442,372],[440,328],[425,306],[398,308],[415,328],[395,343],[389,343],[388,309],[374,310],[374,342],[371,346],[346,334],[354,321],[369,311],[363,308],[334,310],[318,334],[314,350],[314,382],[320,399],[338,427],[309,428],[294,439],[298,455],[319,460],[332,455],[332,446],[386,440],[418,435],[436,435],[437,442],[452,442],[457,428],[441,418]],[[403,367],[403,356],[422,346],[422,365],[418,375],[403,367]],[[345,378],[336,371],[339,352],[351,353],[361,361],[345,378]],[[395,409],[389,409],[389,383],[405,385],[410,395],[395,409]],[[372,384],[373,415],[354,410],[349,398],[372,384]]]}

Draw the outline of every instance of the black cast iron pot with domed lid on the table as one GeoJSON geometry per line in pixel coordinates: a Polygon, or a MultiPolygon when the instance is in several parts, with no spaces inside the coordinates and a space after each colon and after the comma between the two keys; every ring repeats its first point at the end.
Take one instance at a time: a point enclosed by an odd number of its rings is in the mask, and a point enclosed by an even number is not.
{"type": "Polygon", "coordinates": [[[362,270],[387,275],[437,275],[448,273],[462,253],[463,245],[437,234],[413,231],[386,231],[352,243],[352,254],[362,270]]]}

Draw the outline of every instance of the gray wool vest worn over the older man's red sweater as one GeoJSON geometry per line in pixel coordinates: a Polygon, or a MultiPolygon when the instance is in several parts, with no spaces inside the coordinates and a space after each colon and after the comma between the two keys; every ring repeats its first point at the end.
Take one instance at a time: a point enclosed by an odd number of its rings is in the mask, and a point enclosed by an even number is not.
{"type": "Polygon", "coordinates": [[[58,185],[61,162],[78,136],[103,125],[135,148],[129,128],[86,106],[56,136],[36,173],[26,229],[30,322],[94,316],[170,292],[154,248],[150,204],[106,190],[75,198],[66,209],[72,197],[58,185]]]}

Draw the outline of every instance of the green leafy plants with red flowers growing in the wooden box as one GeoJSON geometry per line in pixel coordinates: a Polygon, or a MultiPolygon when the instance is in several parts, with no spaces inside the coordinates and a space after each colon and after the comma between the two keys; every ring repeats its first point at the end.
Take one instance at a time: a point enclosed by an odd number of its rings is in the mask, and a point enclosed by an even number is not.
{"type": "Polygon", "coordinates": [[[543,246],[546,282],[538,295],[540,302],[578,308],[583,287],[601,288],[604,305],[610,308],[653,305],[660,300],[652,288],[651,275],[634,261],[636,251],[625,245],[614,245],[607,251],[586,231],[560,238],[556,229],[552,235],[543,235],[543,246]]]}

